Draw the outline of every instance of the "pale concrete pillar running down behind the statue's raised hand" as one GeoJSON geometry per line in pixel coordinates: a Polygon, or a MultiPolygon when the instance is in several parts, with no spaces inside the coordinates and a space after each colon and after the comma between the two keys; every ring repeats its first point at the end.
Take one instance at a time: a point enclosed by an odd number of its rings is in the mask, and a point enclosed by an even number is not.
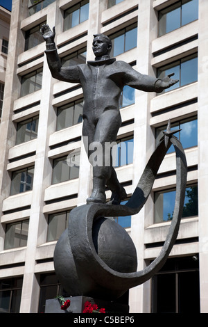
{"type": "MultiPolygon", "coordinates": [[[[47,13],[49,26],[56,26],[59,22],[58,2],[50,6],[47,13]]],[[[58,24],[59,29],[60,24],[58,24]]],[[[24,269],[24,280],[21,294],[21,313],[35,313],[38,309],[40,289],[37,276],[35,276],[35,253],[38,244],[40,226],[44,224],[44,189],[51,184],[51,164],[48,159],[49,136],[54,131],[55,125],[51,123],[54,118],[54,110],[51,105],[53,83],[51,72],[44,56],[42,93],[40,99],[40,119],[37,134],[37,149],[35,156],[35,171],[33,179],[33,196],[31,204],[30,224],[28,230],[28,242],[24,269]],[[42,191],[40,192],[40,185],[42,191]]]]}

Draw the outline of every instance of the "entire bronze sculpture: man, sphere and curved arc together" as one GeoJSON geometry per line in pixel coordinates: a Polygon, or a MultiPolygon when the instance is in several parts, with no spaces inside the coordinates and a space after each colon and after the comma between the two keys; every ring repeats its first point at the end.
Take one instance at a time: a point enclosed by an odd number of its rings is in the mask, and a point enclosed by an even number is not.
{"type": "Polygon", "coordinates": [[[114,301],[131,287],[146,282],[166,262],[182,217],[187,161],[180,141],[173,136],[176,131],[171,131],[168,122],[164,137],[146,164],[135,191],[125,205],[120,205],[126,193],[116,177],[111,154],[105,153],[105,143],[116,141],[121,126],[119,97],[123,86],[160,93],[177,80],[171,79],[172,74],[164,79],[140,74],[128,63],[110,58],[112,44],[110,38],[103,34],[94,35],[92,49],[95,61],[62,67],[55,48],[55,28],[51,31],[44,24],[41,31],[46,40],[45,53],[52,76],[61,81],[80,83],[83,87],[83,136],[85,140],[87,138],[85,150],[93,166],[93,190],[87,205],[71,210],[68,228],[55,246],[55,273],[71,296],[114,301]],[[91,154],[98,144],[103,151],[103,164],[96,166],[91,161],[91,154]],[[173,220],[159,255],[143,270],[137,271],[137,251],[130,235],[107,217],[133,215],[141,210],[171,144],[175,147],[177,178],[173,220]],[[110,205],[105,204],[106,185],[112,191],[110,205]]]}

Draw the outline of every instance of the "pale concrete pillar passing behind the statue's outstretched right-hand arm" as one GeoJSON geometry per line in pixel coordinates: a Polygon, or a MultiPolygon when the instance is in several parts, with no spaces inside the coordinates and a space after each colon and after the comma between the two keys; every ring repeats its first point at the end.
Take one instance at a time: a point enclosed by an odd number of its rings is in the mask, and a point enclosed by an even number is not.
{"type": "MultiPolygon", "coordinates": [[[[157,20],[153,10],[153,1],[138,1],[138,38],[137,38],[137,67],[136,70],[142,74],[154,76],[150,65],[151,41],[156,38],[157,20]]],[[[134,191],[139,178],[146,166],[146,163],[153,153],[155,147],[154,135],[150,128],[150,99],[155,93],[144,93],[136,91],[136,110],[135,110],[135,130],[134,138],[137,144],[134,145],[134,173],[133,187],[134,191]]],[[[151,205],[151,202],[150,202],[151,205]]],[[[137,248],[137,270],[144,269],[144,228],[145,219],[148,212],[148,202],[141,209],[139,214],[132,216],[131,237],[137,248]]],[[[149,281],[144,285],[139,285],[130,289],[130,312],[149,312],[149,281]]]]}

